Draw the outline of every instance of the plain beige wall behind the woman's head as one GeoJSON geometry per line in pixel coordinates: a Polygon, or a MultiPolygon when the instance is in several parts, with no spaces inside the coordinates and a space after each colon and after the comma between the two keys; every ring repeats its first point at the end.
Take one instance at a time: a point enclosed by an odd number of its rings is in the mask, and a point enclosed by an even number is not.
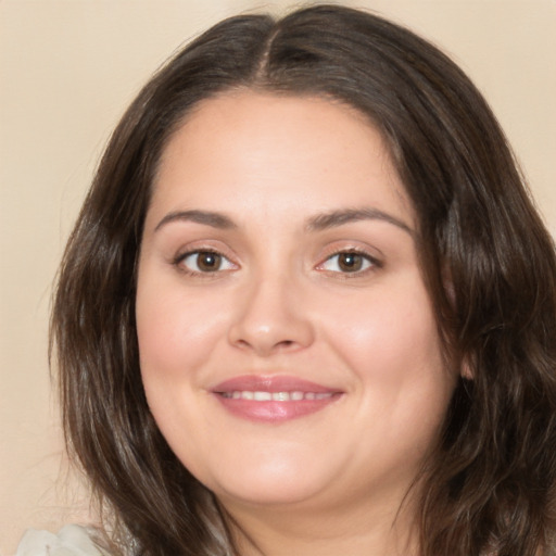
{"type": "MultiPolygon", "coordinates": [[[[556,0],[359,0],[451,53],[494,108],[556,231],[556,0]]],[[[50,393],[50,289],[111,128],[217,20],[288,1],[0,0],[0,555],[86,519],[50,393]]]]}

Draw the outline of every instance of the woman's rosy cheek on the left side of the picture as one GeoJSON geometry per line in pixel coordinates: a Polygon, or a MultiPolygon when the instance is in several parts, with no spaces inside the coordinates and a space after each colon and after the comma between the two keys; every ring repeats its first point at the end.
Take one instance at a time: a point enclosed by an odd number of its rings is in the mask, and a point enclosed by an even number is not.
{"type": "MultiPolygon", "coordinates": [[[[214,301],[214,300],[213,300],[214,301]]],[[[206,435],[203,365],[222,338],[222,313],[211,300],[142,276],[136,302],[140,369],[149,407],[186,466],[185,446],[206,435]]],[[[189,467],[189,466],[188,466],[189,467]]]]}

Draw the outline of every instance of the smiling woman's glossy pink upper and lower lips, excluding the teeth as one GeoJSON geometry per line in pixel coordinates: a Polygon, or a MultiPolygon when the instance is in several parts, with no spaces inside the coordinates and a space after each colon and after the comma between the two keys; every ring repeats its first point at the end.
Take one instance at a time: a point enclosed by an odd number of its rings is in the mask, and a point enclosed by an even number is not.
{"type": "Polygon", "coordinates": [[[291,376],[245,375],[235,377],[211,389],[218,402],[237,417],[251,421],[280,424],[314,414],[338,401],[343,392],[291,376]],[[296,392],[320,394],[318,399],[245,400],[232,397],[233,392],[296,392]]]}

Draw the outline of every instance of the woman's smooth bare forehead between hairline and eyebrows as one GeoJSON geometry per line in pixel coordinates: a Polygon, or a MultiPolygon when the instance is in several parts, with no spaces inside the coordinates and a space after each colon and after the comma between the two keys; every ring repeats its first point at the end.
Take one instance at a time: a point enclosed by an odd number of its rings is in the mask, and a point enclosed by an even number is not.
{"type": "Polygon", "coordinates": [[[273,212],[291,211],[292,199],[315,212],[371,205],[413,224],[382,135],[357,110],[318,97],[227,92],[175,131],[152,208],[231,210],[238,198],[273,212]]]}

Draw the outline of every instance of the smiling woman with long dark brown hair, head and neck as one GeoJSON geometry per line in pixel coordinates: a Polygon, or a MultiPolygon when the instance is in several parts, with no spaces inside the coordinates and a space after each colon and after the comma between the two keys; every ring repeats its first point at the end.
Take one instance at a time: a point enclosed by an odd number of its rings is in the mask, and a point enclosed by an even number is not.
{"type": "Polygon", "coordinates": [[[546,555],[554,245],[467,77],[379,17],[236,17],[106,149],[52,338],[141,555],[546,555]]]}

